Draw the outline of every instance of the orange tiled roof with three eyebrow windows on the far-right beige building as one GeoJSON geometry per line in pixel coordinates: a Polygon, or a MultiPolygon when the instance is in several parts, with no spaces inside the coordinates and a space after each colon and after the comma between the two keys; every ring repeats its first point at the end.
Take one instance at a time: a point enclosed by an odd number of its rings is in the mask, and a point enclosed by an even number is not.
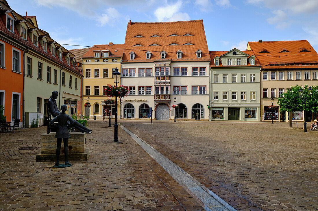
{"type": "MultiPolygon", "coordinates": [[[[318,54],[307,40],[248,42],[262,68],[296,68],[296,66],[270,66],[270,64],[318,63],[318,54]],[[260,53],[266,50],[268,53],[260,53]],[[283,50],[289,52],[281,52],[283,50]],[[300,52],[306,50],[308,52],[300,52]]],[[[310,65],[301,66],[308,68],[310,65]]]]}

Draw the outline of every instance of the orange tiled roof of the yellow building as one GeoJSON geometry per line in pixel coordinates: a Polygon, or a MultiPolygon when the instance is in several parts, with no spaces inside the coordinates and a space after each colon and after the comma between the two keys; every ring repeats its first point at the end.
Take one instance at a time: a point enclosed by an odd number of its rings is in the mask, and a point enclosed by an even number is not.
{"type": "Polygon", "coordinates": [[[93,58],[94,51],[109,50],[111,52],[110,57],[121,57],[124,53],[124,44],[113,44],[113,45],[93,45],[88,51],[82,56],[82,58],[93,58]],[[117,50],[117,51],[115,51],[117,50]]]}

